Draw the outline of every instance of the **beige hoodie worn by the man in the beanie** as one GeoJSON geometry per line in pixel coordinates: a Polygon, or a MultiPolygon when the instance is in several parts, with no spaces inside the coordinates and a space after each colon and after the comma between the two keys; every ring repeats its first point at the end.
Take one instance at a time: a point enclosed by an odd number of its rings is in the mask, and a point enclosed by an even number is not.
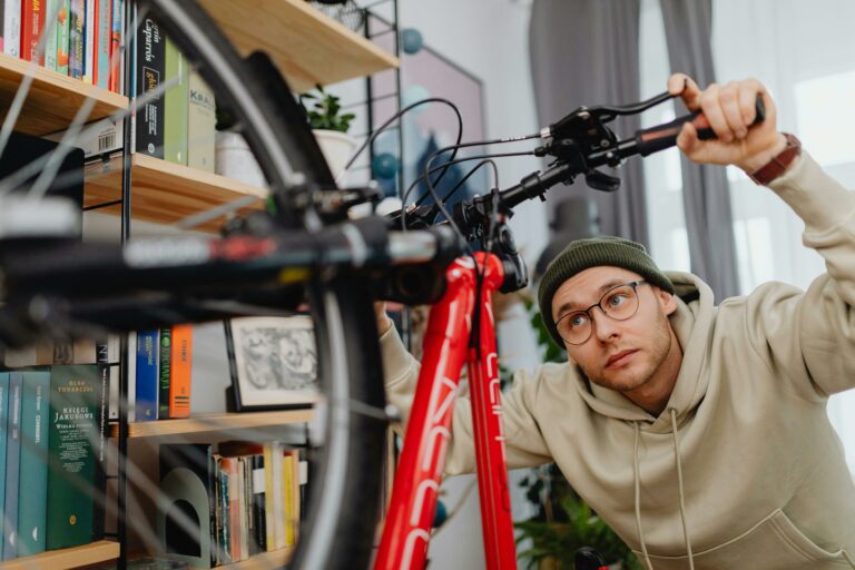
{"type": "MultiPolygon", "coordinates": [[[[503,395],[510,466],[554,461],[656,570],[689,568],[689,550],[698,570],[855,569],[855,485],[826,414],[855,386],[855,194],[806,155],[772,188],[827,274],[718,307],[698,277],[669,274],[684,360],[658,417],[566,363],[519,372],[503,395]]],[[[406,417],[419,364],[394,331],[381,344],[406,417]]],[[[460,399],[448,473],[474,471],[473,445],[460,399]]]]}

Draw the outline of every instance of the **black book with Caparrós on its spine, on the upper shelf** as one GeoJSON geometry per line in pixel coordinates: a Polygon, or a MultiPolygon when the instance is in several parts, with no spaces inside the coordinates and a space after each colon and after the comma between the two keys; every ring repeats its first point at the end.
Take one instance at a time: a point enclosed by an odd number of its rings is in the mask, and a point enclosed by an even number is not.
{"type": "MultiPolygon", "coordinates": [[[[139,22],[136,50],[135,97],[139,101],[160,87],[166,71],[166,41],[157,21],[150,17],[139,22]]],[[[164,94],[147,97],[135,106],[136,151],[164,158],[164,94]]]]}

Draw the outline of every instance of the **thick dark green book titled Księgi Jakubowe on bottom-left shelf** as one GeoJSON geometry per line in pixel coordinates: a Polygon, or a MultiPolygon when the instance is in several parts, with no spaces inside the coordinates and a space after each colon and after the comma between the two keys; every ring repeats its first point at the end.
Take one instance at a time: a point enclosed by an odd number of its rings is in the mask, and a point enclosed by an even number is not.
{"type": "Polygon", "coordinates": [[[92,540],[98,367],[51,366],[47,549],[92,540]]]}

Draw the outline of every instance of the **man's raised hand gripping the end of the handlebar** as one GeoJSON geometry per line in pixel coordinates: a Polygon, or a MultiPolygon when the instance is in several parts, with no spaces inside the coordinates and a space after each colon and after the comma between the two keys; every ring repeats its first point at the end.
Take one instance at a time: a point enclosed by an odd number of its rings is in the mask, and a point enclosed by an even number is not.
{"type": "Polygon", "coordinates": [[[735,165],[748,174],[763,168],[787,145],[777,130],[775,104],[766,88],[756,79],[710,85],[700,90],[684,73],[668,79],[668,91],[679,95],[690,111],[700,109],[718,139],[700,140],[694,125],[687,122],[677,137],[677,146],[691,160],[699,164],[735,165]],[[751,125],[756,118],[755,101],[763,97],[766,118],[751,125]]]}

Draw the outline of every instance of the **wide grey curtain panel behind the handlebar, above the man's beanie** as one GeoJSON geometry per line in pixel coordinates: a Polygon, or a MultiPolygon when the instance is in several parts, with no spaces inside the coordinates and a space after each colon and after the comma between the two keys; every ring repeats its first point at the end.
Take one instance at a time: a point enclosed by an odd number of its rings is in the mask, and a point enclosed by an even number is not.
{"type": "MultiPolygon", "coordinates": [[[[639,0],[535,0],[529,29],[531,73],[538,121],[550,125],[578,107],[636,102],[639,96],[639,0]]],[[[619,136],[635,134],[638,116],[610,124],[619,136]]],[[[571,188],[553,188],[557,195],[593,199],[599,229],[648,243],[641,160],[630,160],[617,173],[620,190],[606,194],[589,189],[579,177],[571,188]]],[[[560,232],[563,228],[554,228],[560,232]]]]}

